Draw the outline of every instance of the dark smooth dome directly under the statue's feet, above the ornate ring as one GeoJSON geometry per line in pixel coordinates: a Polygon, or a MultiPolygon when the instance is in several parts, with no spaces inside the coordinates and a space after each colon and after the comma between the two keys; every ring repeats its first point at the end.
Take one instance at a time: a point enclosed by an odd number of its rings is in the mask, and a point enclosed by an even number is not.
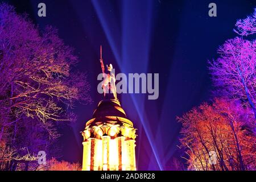
{"type": "Polygon", "coordinates": [[[126,118],[125,111],[122,109],[118,100],[108,99],[102,100],[93,112],[93,118],[115,116],[126,118]]]}

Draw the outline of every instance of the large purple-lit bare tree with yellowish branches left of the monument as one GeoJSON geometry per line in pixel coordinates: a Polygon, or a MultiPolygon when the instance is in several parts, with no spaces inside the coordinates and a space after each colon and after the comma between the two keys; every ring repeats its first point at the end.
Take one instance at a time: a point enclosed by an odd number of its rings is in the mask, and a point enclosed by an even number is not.
{"type": "MultiPolygon", "coordinates": [[[[75,119],[74,103],[90,102],[89,84],[76,63],[55,28],[40,32],[27,15],[0,4],[0,155],[13,151],[0,160],[0,169],[22,159],[17,149],[28,147],[26,139],[59,137],[57,123],[75,119]]],[[[30,154],[37,150],[28,147],[30,154]]]]}

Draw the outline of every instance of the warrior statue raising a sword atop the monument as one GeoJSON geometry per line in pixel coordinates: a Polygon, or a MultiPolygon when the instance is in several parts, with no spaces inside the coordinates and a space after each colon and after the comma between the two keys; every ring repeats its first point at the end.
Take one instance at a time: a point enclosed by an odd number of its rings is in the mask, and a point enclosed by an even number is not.
{"type": "Polygon", "coordinates": [[[115,73],[113,72],[114,71],[113,66],[112,64],[110,64],[109,66],[107,64],[106,65],[107,72],[105,73],[105,66],[102,59],[102,47],[100,48],[100,53],[101,53],[101,59],[100,59],[101,69],[102,69],[102,74],[104,78],[104,81],[102,82],[104,97],[108,98],[108,96],[110,96],[109,93],[112,93],[114,99],[117,100],[117,91],[115,89],[115,73]]]}

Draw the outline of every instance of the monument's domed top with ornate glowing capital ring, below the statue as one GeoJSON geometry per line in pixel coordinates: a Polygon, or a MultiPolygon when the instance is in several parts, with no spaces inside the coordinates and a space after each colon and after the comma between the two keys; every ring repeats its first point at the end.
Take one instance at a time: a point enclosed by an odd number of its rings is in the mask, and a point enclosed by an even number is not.
{"type": "Polygon", "coordinates": [[[88,138],[102,139],[106,135],[112,138],[123,136],[126,139],[135,139],[135,130],[133,122],[126,118],[119,101],[104,99],[94,110],[93,118],[86,122],[82,136],[84,140],[88,138]]]}

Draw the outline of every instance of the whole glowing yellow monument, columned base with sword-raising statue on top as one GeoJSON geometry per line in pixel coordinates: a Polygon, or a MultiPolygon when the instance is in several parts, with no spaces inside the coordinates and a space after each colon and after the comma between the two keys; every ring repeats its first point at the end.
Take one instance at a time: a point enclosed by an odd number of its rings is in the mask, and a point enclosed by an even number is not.
{"type": "Polygon", "coordinates": [[[112,64],[107,65],[108,71],[105,72],[102,49],[100,52],[104,99],[99,102],[93,118],[86,122],[82,131],[82,170],[133,171],[136,170],[135,129],[117,99],[112,64]]]}

